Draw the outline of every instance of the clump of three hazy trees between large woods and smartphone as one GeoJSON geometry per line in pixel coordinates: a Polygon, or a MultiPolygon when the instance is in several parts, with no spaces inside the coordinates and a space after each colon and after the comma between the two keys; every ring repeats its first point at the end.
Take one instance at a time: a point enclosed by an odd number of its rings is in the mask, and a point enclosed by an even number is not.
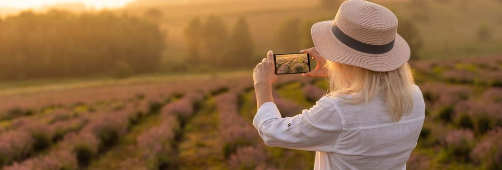
{"type": "Polygon", "coordinates": [[[245,18],[228,31],[223,20],[209,16],[194,18],[185,28],[188,64],[213,67],[242,67],[253,61],[255,44],[245,18]]]}

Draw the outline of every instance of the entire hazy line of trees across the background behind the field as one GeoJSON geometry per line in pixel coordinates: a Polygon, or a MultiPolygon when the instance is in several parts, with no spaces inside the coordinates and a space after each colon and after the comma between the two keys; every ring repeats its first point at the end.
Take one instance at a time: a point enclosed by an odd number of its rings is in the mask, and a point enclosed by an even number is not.
{"type": "MultiPolygon", "coordinates": [[[[252,68],[264,56],[256,55],[256,44],[247,20],[237,19],[228,27],[218,16],[192,19],[183,30],[185,51],[181,60],[161,64],[166,33],[157,22],[160,11],[146,17],[110,12],[81,15],[52,10],[23,12],[0,20],[0,80],[83,77],[159,71],[197,71],[252,68]],[[229,28],[229,29],[228,29],[229,28]],[[180,62],[181,61],[181,62],[180,62]],[[203,70],[203,69],[202,69],[203,70]]],[[[319,21],[327,19],[319,19],[319,21]]],[[[421,46],[413,23],[400,20],[398,32],[412,46],[412,58],[421,46]]],[[[310,29],[315,22],[289,18],[271,29],[271,47],[276,52],[298,52],[313,47],[310,29]]],[[[259,42],[259,41],[258,41],[259,42]]]]}

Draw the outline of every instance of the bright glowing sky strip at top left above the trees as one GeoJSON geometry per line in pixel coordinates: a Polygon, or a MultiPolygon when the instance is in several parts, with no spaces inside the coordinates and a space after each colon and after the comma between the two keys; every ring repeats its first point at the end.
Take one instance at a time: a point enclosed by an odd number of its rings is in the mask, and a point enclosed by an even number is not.
{"type": "Polygon", "coordinates": [[[123,7],[134,0],[0,0],[0,7],[37,9],[61,3],[82,3],[87,8],[103,9],[123,7]]]}

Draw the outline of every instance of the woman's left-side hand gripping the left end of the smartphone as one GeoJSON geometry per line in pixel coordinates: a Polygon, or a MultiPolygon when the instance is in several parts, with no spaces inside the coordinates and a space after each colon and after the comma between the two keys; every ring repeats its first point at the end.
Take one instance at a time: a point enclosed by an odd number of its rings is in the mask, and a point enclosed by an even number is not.
{"type": "Polygon", "coordinates": [[[264,84],[272,85],[277,80],[274,66],[274,54],[272,51],[267,53],[267,58],[264,58],[261,63],[253,69],[253,80],[255,85],[264,84]]]}

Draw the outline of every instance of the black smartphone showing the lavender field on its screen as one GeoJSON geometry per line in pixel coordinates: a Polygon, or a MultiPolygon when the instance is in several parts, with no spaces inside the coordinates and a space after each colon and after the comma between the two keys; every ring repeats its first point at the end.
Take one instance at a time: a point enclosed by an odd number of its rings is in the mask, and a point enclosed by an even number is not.
{"type": "Polygon", "coordinates": [[[310,56],[307,53],[274,54],[276,74],[297,74],[310,71],[310,56]]]}

